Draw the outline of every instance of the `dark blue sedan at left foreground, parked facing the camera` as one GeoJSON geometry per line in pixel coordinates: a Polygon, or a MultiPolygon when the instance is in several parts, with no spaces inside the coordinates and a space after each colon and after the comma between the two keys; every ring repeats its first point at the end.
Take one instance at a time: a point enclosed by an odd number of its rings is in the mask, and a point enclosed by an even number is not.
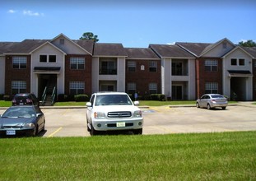
{"type": "Polygon", "coordinates": [[[5,136],[35,137],[44,128],[44,113],[35,105],[12,106],[0,118],[0,134],[5,136]]]}

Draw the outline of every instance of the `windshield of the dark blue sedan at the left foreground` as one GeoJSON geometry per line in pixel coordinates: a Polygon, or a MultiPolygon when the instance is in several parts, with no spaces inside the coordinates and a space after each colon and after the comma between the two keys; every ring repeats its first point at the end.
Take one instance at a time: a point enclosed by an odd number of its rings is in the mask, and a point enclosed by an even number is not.
{"type": "Polygon", "coordinates": [[[33,108],[12,107],[2,114],[2,118],[32,118],[35,117],[33,108]]]}

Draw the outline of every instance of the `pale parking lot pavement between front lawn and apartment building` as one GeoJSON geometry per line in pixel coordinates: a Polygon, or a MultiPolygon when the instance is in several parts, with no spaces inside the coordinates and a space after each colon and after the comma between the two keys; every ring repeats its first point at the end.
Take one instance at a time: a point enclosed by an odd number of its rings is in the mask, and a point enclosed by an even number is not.
{"type": "MultiPolygon", "coordinates": [[[[46,131],[40,137],[90,137],[86,131],[86,108],[41,108],[46,131]]],[[[0,114],[5,109],[0,109],[0,114]]],[[[187,132],[234,132],[256,130],[256,106],[228,106],[222,109],[196,107],[142,108],[143,134],[187,132]]]]}

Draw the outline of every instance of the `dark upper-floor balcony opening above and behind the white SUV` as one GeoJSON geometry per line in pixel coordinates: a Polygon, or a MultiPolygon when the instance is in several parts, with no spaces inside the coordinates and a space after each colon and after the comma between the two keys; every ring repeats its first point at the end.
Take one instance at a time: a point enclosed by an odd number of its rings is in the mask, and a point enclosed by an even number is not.
{"type": "Polygon", "coordinates": [[[117,75],[116,58],[103,58],[100,60],[100,75],[117,75]]]}

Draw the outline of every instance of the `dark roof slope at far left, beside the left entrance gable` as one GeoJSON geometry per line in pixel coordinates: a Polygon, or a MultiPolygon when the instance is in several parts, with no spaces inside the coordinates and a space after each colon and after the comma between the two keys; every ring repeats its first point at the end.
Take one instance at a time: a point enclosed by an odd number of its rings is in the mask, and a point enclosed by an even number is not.
{"type": "Polygon", "coordinates": [[[47,42],[47,39],[25,39],[21,43],[16,43],[12,46],[12,49],[7,49],[5,54],[29,54],[40,45],[47,42]]]}

